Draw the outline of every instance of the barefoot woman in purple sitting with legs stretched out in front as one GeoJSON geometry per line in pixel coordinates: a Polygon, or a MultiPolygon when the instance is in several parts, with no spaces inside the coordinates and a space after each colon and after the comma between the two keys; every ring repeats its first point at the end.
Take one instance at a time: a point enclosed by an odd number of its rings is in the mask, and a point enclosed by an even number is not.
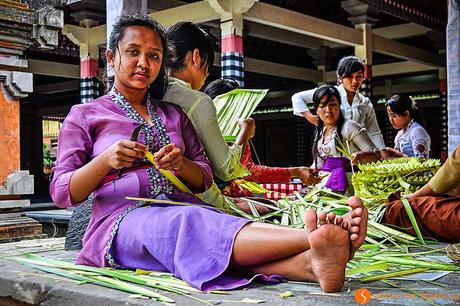
{"type": "Polygon", "coordinates": [[[309,211],[305,229],[204,208],[158,169],[174,171],[192,192],[212,182],[187,116],[159,100],[166,86],[163,28],[148,17],[122,17],[106,56],[113,85],[107,95],[72,108],[59,135],[51,184],[60,207],[92,199],[77,263],[170,271],[201,290],[236,288],[257,276],[318,281],[328,292],[342,288],[350,246],[359,248],[366,233],[367,212],[358,198],[350,200],[353,210],[343,220],[320,214],[318,228],[318,216],[309,211]],[[139,135],[133,133],[138,129],[139,135]],[[146,151],[155,152],[158,168],[149,167],[146,151]],[[151,205],[126,196],[191,205],[151,205]],[[325,224],[337,222],[341,226],[325,224]]]}

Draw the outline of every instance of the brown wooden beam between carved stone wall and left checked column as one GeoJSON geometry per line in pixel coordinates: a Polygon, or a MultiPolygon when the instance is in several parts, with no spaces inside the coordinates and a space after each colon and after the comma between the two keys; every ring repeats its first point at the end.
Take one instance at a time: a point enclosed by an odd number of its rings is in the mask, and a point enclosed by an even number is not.
{"type": "Polygon", "coordinates": [[[51,75],[70,79],[80,79],[80,65],[29,59],[25,70],[34,74],[51,75]]]}

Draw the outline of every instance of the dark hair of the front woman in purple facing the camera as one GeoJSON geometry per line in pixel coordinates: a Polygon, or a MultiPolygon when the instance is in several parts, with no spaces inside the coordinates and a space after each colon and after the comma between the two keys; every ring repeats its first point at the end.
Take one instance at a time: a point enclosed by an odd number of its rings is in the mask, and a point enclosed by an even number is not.
{"type": "MultiPolygon", "coordinates": [[[[116,51],[120,52],[118,49],[118,43],[123,39],[126,28],[131,26],[142,26],[149,28],[152,31],[158,33],[160,36],[161,45],[163,47],[163,60],[157,78],[149,86],[149,92],[152,98],[162,99],[168,85],[168,76],[165,69],[165,63],[168,58],[168,43],[166,39],[166,32],[161,24],[148,16],[122,16],[113,25],[112,32],[110,33],[109,41],[107,43],[107,49],[110,50],[113,54],[115,54],[116,51]]],[[[114,78],[114,76],[106,77],[106,91],[109,91],[110,88],[112,88],[114,78]]]]}

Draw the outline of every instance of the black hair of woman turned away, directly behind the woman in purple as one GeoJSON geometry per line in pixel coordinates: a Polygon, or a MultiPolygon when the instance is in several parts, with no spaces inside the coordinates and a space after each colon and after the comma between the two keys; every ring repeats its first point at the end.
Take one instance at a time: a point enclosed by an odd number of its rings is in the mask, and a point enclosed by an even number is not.
{"type": "Polygon", "coordinates": [[[211,68],[214,63],[214,43],[211,36],[200,26],[191,22],[178,22],[167,31],[170,58],[168,69],[181,70],[185,67],[185,58],[189,52],[198,49],[203,59],[201,65],[211,68]]]}

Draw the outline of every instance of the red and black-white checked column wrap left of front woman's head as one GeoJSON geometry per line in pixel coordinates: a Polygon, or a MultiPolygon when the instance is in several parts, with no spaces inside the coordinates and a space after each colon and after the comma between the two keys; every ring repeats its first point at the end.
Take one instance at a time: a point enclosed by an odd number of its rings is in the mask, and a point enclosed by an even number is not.
{"type": "Polygon", "coordinates": [[[89,102],[99,97],[99,65],[97,59],[80,62],[80,101],[89,102]]]}

